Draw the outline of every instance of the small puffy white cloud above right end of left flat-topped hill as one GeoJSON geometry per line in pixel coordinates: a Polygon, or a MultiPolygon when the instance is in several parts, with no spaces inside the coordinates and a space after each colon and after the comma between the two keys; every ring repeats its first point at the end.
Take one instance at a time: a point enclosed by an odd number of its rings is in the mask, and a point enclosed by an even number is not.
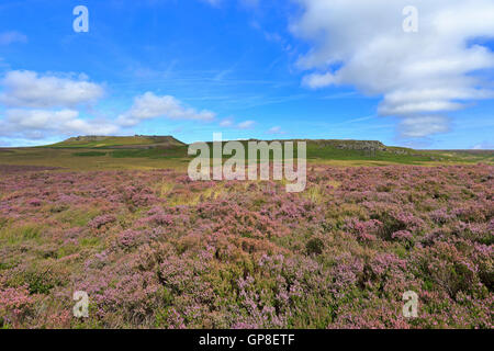
{"type": "Polygon", "coordinates": [[[183,106],[173,97],[159,97],[148,91],[134,99],[132,107],[117,117],[117,123],[130,127],[137,125],[142,121],[156,117],[210,122],[214,120],[215,113],[207,110],[197,111],[192,107],[183,106]]]}

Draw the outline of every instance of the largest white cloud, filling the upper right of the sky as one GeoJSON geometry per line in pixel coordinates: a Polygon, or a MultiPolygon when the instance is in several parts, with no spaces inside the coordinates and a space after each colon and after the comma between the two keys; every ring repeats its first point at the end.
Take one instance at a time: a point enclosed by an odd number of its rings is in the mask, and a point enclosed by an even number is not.
{"type": "Polygon", "coordinates": [[[313,43],[299,60],[313,70],[312,89],[353,86],[382,95],[381,115],[401,117],[404,136],[448,131],[448,112],[492,99],[489,76],[494,55],[478,37],[494,37],[492,0],[295,0],[302,15],[292,32],[313,43]],[[418,32],[405,33],[403,9],[418,9],[418,32]]]}

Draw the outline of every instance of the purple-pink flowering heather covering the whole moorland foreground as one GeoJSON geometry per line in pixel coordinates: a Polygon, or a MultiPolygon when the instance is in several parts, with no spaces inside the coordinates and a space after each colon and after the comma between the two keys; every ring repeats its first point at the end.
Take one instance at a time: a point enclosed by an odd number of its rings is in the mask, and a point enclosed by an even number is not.
{"type": "Polygon", "coordinates": [[[493,328],[493,173],[314,166],[287,193],[0,166],[0,327],[493,328]]]}

